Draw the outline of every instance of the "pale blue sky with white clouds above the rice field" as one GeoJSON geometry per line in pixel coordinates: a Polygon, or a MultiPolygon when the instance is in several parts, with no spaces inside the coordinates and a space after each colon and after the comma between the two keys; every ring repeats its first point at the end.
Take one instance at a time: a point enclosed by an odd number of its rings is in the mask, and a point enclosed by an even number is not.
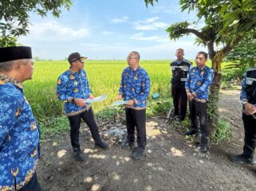
{"type": "Polygon", "coordinates": [[[131,51],[143,60],[175,59],[179,48],[192,59],[207,50],[194,45],[194,35],[176,41],[168,37],[169,25],[197,21],[194,13],[181,12],[179,0],[160,0],[148,8],[144,0],[73,0],[60,18],[30,16],[30,33],[18,42],[31,46],[33,57],[40,59],[63,60],[78,52],[90,60],[125,60],[131,51]]]}

